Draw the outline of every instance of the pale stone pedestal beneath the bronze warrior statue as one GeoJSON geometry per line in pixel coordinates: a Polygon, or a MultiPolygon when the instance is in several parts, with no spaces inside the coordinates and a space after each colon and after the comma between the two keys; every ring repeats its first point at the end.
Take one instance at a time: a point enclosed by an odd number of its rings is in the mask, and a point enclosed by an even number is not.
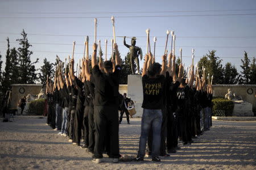
{"type": "Polygon", "coordinates": [[[128,75],[128,88],[127,95],[134,101],[135,109],[137,113],[134,117],[142,117],[142,101],[143,101],[143,89],[142,89],[142,76],[138,74],[128,75]]]}

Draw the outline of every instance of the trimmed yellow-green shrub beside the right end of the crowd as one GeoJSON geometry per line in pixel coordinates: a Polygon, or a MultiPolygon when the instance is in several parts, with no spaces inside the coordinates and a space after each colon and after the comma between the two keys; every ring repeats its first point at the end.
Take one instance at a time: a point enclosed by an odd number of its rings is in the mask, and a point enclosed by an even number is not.
{"type": "Polygon", "coordinates": [[[217,98],[212,100],[213,116],[216,116],[218,111],[224,111],[224,116],[232,116],[234,103],[228,99],[217,98]]]}

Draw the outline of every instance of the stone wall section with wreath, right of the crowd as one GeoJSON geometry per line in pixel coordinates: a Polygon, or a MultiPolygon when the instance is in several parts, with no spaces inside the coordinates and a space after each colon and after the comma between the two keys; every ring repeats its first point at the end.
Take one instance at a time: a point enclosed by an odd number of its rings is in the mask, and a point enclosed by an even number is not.
{"type": "Polygon", "coordinates": [[[242,100],[247,101],[253,105],[253,110],[256,109],[256,85],[238,85],[238,84],[216,84],[213,85],[213,96],[225,97],[225,94],[230,88],[233,93],[242,96],[242,100]],[[253,89],[253,94],[248,94],[247,90],[253,89]]]}

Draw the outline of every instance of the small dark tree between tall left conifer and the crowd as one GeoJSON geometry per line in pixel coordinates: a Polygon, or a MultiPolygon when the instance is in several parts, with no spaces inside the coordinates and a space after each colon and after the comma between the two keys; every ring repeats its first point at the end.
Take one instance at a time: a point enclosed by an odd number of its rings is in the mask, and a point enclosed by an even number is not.
{"type": "Polygon", "coordinates": [[[40,83],[44,84],[47,80],[47,75],[50,77],[53,75],[53,63],[47,61],[46,58],[44,58],[44,63],[39,69],[40,73],[38,74],[40,83]]]}

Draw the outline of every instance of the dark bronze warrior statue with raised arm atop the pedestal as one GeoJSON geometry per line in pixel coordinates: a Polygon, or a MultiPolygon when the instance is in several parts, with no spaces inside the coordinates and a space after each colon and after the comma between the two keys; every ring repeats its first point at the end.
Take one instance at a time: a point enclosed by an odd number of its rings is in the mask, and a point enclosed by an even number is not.
{"type": "Polygon", "coordinates": [[[136,37],[131,38],[131,45],[126,44],[125,38],[123,39],[123,45],[125,45],[127,48],[130,49],[130,62],[131,62],[131,71],[134,74],[134,68],[133,68],[133,59],[135,60],[135,63],[137,65],[137,73],[139,73],[139,56],[141,56],[142,60],[142,49],[138,46],[135,46],[136,44],[136,37]]]}

